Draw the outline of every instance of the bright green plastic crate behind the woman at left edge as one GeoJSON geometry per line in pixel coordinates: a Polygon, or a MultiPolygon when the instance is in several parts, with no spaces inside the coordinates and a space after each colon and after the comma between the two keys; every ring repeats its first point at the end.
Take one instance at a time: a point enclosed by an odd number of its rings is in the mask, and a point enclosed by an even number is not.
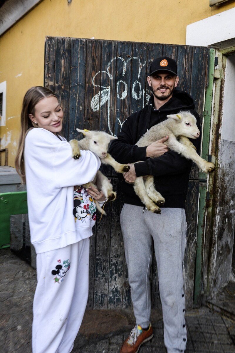
{"type": "Polygon", "coordinates": [[[0,249],[10,247],[10,216],[26,213],[26,191],[0,193],[0,249]]]}

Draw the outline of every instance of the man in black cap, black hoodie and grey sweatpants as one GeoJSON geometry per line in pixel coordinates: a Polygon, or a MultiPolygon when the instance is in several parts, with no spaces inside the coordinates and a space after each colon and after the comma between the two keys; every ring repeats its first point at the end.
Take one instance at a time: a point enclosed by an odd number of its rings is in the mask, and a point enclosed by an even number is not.
{"type": "MultiPolygon", "coordinates": [[[[192,162],[176,152],[168,151],[164,145],[168,136],[145,147],[138,147],[135,143],[153,125],[167,119],[168,114],[189,110],[195,115],[199,129],[200,121],[193,110],[193,98],[186,92],[175,90],[179,82],[175,60],[167,56],[153,60],[147,82],[153,93],[149,103],[140,112],[129,116],[109,150],[120,163],[142,161],[124,173],[125,180],[120,179],[125,200],[120,222],[136,318],[136,325],[120,352],[138,352],[140,345],[153,337],[150,323],[153,240],[163,311],[164,343],[168,353],[179,353],[186,349],[187,339],[182,263],[186,235],[184,208],[192,162]],[[135,195],[133,185],[129,184],[143,175],[154,176],[156,189],[165,198],[161,214],[146,211],[135,195]]],[[[199,150],[200,139],[192,142],[199,150]]]]}

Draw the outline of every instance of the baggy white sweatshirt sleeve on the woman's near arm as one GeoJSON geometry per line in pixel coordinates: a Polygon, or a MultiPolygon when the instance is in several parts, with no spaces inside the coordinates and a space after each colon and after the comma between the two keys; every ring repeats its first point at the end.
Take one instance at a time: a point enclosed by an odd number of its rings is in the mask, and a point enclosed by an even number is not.
{"type": "Polygon", "coordinates": [[[33,128],[26,135],[24,156],[28,178],[44,180],[56,188],[92,181],[101,164],[100,158],[90,151],[81,151],[81,157],[75,160],[65,139],[42,128],[33,128]]]}

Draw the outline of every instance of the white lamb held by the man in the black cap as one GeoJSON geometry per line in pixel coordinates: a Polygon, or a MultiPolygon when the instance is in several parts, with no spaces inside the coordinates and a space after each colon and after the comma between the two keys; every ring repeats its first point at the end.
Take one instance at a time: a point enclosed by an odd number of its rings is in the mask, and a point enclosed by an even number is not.
{"type": "MultiPolygon", "coordinates": [[[[179,114],[167,115],[167,118],[167,120],[151,127],[136,145],[139,147],[148,146],[164,136],[169,136],[164,144],[170,150],[183,155],[187,159],[191,159],[203,172],[212,172],[215,169],[215,165],[201,158],[195,151],[194,145],[188,139],[200,136],[195,116],[189,111],[182,111],[179,114]]],[[[156,191],[152,175],[138,177],[134,182],[134,190],[148,210],[154,213],[161,213],[161,209],[158,206],[163,206],[165,199],[156,191]]]]}

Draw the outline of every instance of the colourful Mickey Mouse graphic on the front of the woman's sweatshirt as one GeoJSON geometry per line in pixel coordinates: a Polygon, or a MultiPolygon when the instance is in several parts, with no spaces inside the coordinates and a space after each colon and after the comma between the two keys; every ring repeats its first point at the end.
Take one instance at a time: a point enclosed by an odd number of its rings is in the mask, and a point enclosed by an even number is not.
{"type": "Polygon", "coordinates": [[[86,222],[96,220],[96,204],[93,198],[82,186],[74,191],[73,215],[75,221],[86,222]],[[89,220],[88,220],[89,217],[89,220]]]}

